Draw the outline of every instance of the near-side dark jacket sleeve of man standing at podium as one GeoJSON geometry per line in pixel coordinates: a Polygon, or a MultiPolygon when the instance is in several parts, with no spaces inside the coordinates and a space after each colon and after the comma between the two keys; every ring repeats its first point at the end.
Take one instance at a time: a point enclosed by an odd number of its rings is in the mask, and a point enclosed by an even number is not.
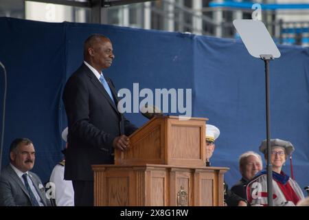
{"type": "Polygon", "coordinates": [[[69,136],[79,137],[87,144],[108,148],[113,146],[114,135],[101,131],[89,122],[89,91],[82,78],[70,78],[63,93],[65,111],[70,122],[69,136]]]}

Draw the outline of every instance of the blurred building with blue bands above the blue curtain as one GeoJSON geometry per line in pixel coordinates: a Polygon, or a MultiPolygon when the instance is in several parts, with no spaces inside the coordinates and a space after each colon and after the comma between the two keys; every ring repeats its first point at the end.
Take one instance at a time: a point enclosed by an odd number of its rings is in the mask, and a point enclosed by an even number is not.
{"type": "Polygon", "coordinates": [[[309,45],[309,0],[0,0],[0,17],[238,38],[232,21],[251,19],[253,3],[275,42],[309,45]]]}

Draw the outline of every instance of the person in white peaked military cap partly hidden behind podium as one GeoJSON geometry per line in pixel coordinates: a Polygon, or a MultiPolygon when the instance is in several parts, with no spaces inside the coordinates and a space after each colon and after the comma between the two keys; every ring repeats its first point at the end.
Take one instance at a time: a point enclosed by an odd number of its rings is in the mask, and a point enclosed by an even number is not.
{"type": "MultiPolygon", "coordinates": [[[[219,137],[220,130],[211,124],[206,124],[206,166],[211,166],[209,159],[212,157],[215,149],[215,140],[219,137]]],[[[225,187],[225,204],[227,206],[247,206],[246,199],[242,199],[229,190],[229,186],[224,183],[225,187]]]]}

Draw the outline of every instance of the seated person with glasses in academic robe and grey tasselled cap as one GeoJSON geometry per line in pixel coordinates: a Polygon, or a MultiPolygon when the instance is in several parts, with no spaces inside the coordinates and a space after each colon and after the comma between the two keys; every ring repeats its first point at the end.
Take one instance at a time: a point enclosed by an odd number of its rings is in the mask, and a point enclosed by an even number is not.
{"type": "MultiPolygon", "coordinates": [[[[271,140],[271,164],[273,166],[273,206],[296,206],[304,199],[297,182],[282,171],[288,155],[295,150],[293,144],[285,140],[271,140]]],[[[266,140],[260,146],[267,160],[266,140]]],[[[251,206],[267,206],[267,173],[258,173],[247,185],[247,199],[251,206]]]]}

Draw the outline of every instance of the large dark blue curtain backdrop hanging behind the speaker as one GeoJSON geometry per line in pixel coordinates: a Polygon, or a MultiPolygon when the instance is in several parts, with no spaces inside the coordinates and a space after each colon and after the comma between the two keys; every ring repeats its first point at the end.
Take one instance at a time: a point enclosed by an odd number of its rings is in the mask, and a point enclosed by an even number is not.
{"type": "MultiPolygon", "coordinates": [[[[264,62],[241,41],[209,36],[83,23],[43,23],[0,18],[0,61],[8,72],[3,166],[15,137],[36,148],[34,172],[47,181],[65,147],[67,125],[62,89],[82,63],[83,42],[100,33],[113,42],[115,61],[106,75],[117,89],[192,89],[192,116],[209,118],[220,129],[214,166],[228,166],[225,179],[240,179],[238,157],[258,151],[266,138],[264,62]]],[[[309,50],[278,45],[271,61],[271,137],[292,142],[301,188],[309,185],[309,50]]],[[[0,69],[1,113],[3,76],[0,69]]],[[[140,99],[142,100],[142,98],[140,99]]],[[[139,113],[126,117],[141,126],[139,113]]],[[[290,174],[289,162],[284,171],[290,174]]]]}

